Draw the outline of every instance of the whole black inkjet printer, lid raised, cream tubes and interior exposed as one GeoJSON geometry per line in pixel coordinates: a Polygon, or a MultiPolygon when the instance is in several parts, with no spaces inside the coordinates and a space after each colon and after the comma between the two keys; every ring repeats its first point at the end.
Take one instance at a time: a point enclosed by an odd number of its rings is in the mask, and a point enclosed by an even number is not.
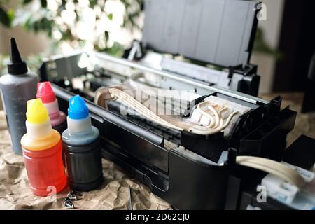
{"type": "Polygon", "coordinates": [[[84,97],[104,158],[176,209],[307,208],[314,202],[302,197],[307,179],[284,164],[311,175],[314,152],[293,164],[297,152],[285,149],[296,113],[281,97],[256,97],[257,66],[248,64],[258,2],[207,1],[207,16],[196,14],[197,3],[176,2],[146,1],[142,41],[123,57],[51,57],[41,79],[53,83],[65,113],[70,97],[84,97]],[[179,23],[185,16],[189,22],[179,23]],[[269,186],[267,202],[257,202],[259,186],[269,186]]]}

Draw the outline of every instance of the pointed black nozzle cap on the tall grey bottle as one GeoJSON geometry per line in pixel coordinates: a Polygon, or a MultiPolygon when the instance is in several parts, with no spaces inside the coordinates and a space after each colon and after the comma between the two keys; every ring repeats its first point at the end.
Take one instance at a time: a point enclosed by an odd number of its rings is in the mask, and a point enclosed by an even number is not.
{"type": "Polygon", "coordinates": [[[27,64],[22,61],[15,38],[10,37],[10,62],[8,63],[8,73],[11,75],[22,75],[27,73],[27,71],[27,64]]]}

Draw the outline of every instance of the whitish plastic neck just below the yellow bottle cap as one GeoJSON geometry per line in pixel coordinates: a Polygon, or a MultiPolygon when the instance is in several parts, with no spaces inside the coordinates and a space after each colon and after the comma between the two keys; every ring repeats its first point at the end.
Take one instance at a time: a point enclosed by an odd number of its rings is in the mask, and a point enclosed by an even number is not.
{"type": "Polygon", "coordinates": [[[31,139],[43,139],[51,134],[52,127],[50,120],[48,119],[45,123],[34,124],[25,122],[27,128],[27,135],[31,139]]]}

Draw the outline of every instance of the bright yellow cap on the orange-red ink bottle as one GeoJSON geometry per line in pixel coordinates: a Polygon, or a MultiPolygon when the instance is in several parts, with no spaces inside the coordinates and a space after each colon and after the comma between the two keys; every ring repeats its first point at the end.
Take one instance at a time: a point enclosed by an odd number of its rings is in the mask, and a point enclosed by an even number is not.
{"type": "Polygon", "coordinates": [[[27,122],[33,124],[45,123],[48,119],[48,111],[41,102],[41,99],[27,101],[27,122]]]}

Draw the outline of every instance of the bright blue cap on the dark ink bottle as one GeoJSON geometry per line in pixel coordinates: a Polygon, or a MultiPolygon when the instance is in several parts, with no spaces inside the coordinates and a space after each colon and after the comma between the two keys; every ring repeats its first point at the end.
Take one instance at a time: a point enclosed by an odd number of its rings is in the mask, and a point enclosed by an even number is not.
{"type": "Polygon", "coordinates": [[[89,116],[89,109],[87,108],[84,99],[79,95],[71,97],[69,100],[68,116],[71,119],[79,120],[89,116]]]}

